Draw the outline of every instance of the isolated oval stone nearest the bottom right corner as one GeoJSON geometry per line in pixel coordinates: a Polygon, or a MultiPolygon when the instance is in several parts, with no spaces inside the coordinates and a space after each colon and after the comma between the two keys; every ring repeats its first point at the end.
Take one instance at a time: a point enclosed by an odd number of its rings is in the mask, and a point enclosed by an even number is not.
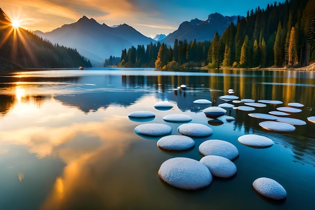
{"type": "Polygon", "coordinates": [[[265,197],[275,200],[286,198],[286,191],[283,186],[273,179],[267,177],[258,178],[253,182],[253,187],[265,197]]]}

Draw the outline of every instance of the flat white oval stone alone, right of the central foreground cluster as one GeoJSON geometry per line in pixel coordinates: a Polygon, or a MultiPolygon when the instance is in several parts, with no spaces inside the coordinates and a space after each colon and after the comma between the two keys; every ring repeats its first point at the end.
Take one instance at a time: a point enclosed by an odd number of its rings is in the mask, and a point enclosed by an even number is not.
{"type": "Polygon", "coordinates": [[[253,148],[268,148],[274,144],[270,138],[257,134],[242,135],[238,138],[238,141],[243,145],[253,148]]]}

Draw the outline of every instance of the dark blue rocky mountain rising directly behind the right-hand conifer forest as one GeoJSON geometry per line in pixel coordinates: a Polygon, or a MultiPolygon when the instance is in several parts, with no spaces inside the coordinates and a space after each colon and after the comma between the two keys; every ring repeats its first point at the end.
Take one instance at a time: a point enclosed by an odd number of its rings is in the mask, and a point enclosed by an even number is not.
{"type": "Polygon", "coordinates": [[[210,14],[205,21],[197,18],[190,22],[183,22],[179,28],[173,33],[169,34],[164,40],[164,43],[173,45],[175,39],[193,41],[196,39],[199,42],[211,41],[214,33],[218,32],[221,35],[228,25],[233,22],[237,25],[238,19],[242,20],[243,16],[223,16],[219,13],[210,14]]]}

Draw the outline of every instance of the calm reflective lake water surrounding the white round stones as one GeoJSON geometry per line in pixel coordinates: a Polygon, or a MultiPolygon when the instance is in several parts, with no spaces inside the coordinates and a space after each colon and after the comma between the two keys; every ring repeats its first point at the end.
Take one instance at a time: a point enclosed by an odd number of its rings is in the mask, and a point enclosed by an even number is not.
{"type": "Polygon", "coordinates": [[[49,69],[0,77],[0,209],[313,209],[315,206],[315,72],[231,71],[160,72],[153,69],[49,69]],[[178,89],[185,84],[188,88],[178,89]],[[206,106],[230,103],[219,98],[233,89],[241,99],[279,100],[255,111],[225,108],[227,122],[211,121],[206,106]],[[169,101],[168,110],[154,108],[169,101]],[[262,128],[266,121],[249,113],[268,113],[298,102],[301,112],[288,117],[306,122],[294,131],[262,128]],[[154,118],[135,120],[134,111],[154,118]],[[160,149],[160,137],[135,133],[144,123],[163,123],[180,134],[169,114],[191,116],[190,123],[213,134],[192,137],[183,152],[160,149]],[[245,134],[269,137],[274,145],[257,149],[238,142],[245,134]],[[200,160],[208,139],[233,144],[237,174],[213,177],[199,190],[182,190],[162,181],[162,163],[174,157],[200,160]],[[258,194],[252,183],[268,177],[287,192],[275,201],[258,194]]]}

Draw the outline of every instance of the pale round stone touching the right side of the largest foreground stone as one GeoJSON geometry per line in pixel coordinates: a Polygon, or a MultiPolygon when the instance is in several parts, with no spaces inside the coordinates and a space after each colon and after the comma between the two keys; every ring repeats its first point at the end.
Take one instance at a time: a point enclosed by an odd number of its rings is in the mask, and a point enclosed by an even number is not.
{"type": "Polygon", "coordinates": [[[216,155],[208,155],[200,159],[200,163],[205,165],[213,176],[228,178],[237,172],[235,164],[227,158],[216,155]]]}

